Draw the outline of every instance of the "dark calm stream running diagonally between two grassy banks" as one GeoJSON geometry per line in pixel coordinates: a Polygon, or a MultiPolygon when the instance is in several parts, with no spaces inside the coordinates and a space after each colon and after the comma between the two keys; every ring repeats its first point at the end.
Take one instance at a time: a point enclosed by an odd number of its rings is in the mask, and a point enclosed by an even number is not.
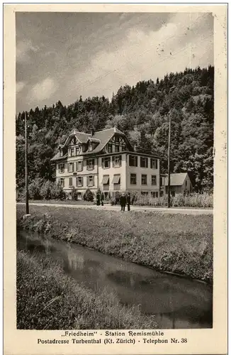
{"type": "Polygon", "coordinates": [[[213,327],[213,287],[123,261],[77,244],[20,231],[17,249],[37,251],[62,265],[78,283],[107,288],[124,305],[140,305],[160,329],[213,327]]]}

